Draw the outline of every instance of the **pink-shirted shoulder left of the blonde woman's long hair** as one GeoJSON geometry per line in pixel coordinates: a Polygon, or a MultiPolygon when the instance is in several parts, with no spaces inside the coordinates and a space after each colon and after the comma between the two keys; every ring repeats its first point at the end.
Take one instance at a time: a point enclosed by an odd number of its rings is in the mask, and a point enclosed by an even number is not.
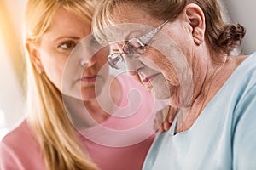
{"type": "Polygon", "coordinates": [[[0,144],[0,164],[3,169],[42,169],[39,144],[26,120],[9,132],[0,144]]]}

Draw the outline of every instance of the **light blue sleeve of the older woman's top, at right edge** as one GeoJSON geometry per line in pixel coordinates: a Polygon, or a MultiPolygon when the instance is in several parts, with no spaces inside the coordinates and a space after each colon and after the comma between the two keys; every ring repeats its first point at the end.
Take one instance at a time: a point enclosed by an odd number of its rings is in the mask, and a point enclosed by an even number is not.
{"type": "MultiPolygon", "coordinates": [[[[251,54],[240,66],[233,91],[237,102],[232,120],[232,145],[235,166],[238,169],[253,169],[256,156],[256,53],[251,54]]],[[[232,99],[232,96],[230,96],[232,99]]]]}

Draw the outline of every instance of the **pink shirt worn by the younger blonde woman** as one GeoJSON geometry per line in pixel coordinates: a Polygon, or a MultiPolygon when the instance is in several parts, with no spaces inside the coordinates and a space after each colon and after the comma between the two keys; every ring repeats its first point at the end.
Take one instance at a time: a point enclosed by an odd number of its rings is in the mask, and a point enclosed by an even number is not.
{"type": "MultiPolygon", "coordinates": [[[[130,77],[120,76],[118,80],[124,96],[119,109],[100,125],[80,129],[79,138],[101,169],[140,170],[154,140],[154,113],[165,104],[130,77]]],[[[0,154],[1,169],[45,169],[38,142],[26,121],[4,137],[0,154]]]]}

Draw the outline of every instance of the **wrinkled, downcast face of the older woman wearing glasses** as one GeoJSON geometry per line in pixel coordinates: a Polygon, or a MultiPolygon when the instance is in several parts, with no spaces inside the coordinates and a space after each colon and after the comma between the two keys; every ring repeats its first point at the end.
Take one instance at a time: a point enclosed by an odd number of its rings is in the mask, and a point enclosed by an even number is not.
{"type": "MultiPolygon", "coordinates": [[[[176,20],[162,25],[164,21],[154,19],[150,15],[143,13],[142,10],[127,5],[120,5],[119,9],[113,10],[113,15],[115,20],[118,20],[118,24],[122,24],[117,29],[123,29],[120,31],[121,36],[116,33],[118,31],[115,31],[115,33],[118,35],[117,37],[121,38],[119,39],[120,42],[118,42],[119,51],[122,50],[124,53],[125,63],[131,75],[139,78],[140,82],[154,93],[157,98],[167,99],[172,96],[173,105],[177,105],[181,90],[181,79],[184,76],[190,76],[189,73],[183,75],[186,72],[184,68],[189,68],[184,55],[189,48],[189,37],[185,37],[186,34],[183,33],[180,21],[176,20]],[[133,23],[134,25],[131,26],[128,23],[133,23]],[[135,26],[136,24],[138,26],[135,26]],[[160,26],[159,32],[146,44],[143,44],[145,45],[145,50],[140,49],[136,55],[130,55],[135,48],[132,44],[128,46],[124,46],[124,44],[133,38],[137,38],[138,41],[143,40],[143,36],[147,37],[145,35],[150,35],[148,32],[153,31],[158,26],[160,26]],[[129,47],[131,48],[129,49],[129,47]],[[131,50],[131,53],[129,50],[131,50]],[[143,53],[140,53],[141,51],[143,53]]],[[[187,36],[189,36],[189,33],[187,36]]],[[[114,48],[114,46],[112,47],[114,48]]],[[[191,87],[191,84],[189,86],[191,87]]]]}

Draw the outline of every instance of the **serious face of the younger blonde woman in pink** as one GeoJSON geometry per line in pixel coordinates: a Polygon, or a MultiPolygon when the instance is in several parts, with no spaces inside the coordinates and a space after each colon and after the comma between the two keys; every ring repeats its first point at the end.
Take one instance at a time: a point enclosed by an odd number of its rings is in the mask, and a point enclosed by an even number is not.
{"type": "Polygon", "coordinates": [[[59,8],[37,48],[42,69],[55,87],[64,94],[82,97],[83,100],[95,98],[96,79],[103,83],[105,77],[100,74],[108,75],[107,68],[99,73],[106,64],[107,48],[96,54],[90,54],[90,50],[84,48],[84,55],[78,52],[79,49],[73,52],[84,37],[90,36],[90,31],[90,23],[59,8]],[[81,95],[78,96],[79,93],[81,95]]]}

